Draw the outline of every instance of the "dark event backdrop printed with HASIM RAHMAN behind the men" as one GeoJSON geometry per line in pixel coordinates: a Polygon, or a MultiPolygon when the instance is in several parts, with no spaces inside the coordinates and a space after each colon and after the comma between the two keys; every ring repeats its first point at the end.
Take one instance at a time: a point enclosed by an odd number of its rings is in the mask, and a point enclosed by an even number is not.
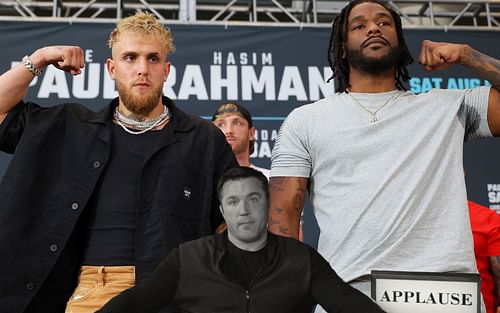
{"type": "MultiPolygon", "coordinates": [[[[79,45],[85,50],[84,73],[73,77],[49,67],[33,80],[26,99],[46,106],[79,102],[98,110],[117,95],[105,68],[112,28],[112,24],[102,23],[0,22],[0,71],[38,47],[79,45]]],[[[246,106],[257,128],[252,162],[258,166],[270,166],[279,127],[293,108],[334,92],[334,83],[326,83],[331,74],[326,57],[329,28],[177,24],[170,28],[177,51],[170,56],[172,71],[164,94],[181,109],[204,118],[210,118],[222,102],[246,106]]],[[[498,31],[406,30],[405,36],[415,58],[424,39],[468,43],[500,57],[498,31]]],[[[414,64],[410,73],[410,89],[415,93],[434,87],[462,89],[488,84],[461,66],[425,72],[414,64]]],[[[469,198],[500,212],[499,156],[498,140],[465,145],[469,198]]],[[[10,156],[0,153],[0,178],[9,160],[10,156]]],[[[306,242],[315,245],[317,228],[311,211],[307,205],[304,230],[306,242]]]]}

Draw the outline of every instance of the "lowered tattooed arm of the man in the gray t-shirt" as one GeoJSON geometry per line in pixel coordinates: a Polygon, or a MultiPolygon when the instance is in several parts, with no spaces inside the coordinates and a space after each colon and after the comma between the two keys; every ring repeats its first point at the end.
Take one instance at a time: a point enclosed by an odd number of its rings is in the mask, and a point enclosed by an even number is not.
{"type": "Polygon", "coordinates": [[[304,207],[308,178],[271,177],[269,192],[269,231],[280,236],[299,238],[300,214],[304,207]]]}

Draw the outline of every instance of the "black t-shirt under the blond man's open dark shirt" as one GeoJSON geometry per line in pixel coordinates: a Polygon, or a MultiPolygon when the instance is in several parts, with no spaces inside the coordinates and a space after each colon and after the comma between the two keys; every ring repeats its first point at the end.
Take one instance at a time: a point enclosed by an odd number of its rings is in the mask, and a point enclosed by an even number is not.
{"type": "Polygon", "coordinates": [[[133,265],[138,190],[144,160],[160,131],[140,135],[113,124],[111,157],[88,204],[83,265],[133,265]]]}

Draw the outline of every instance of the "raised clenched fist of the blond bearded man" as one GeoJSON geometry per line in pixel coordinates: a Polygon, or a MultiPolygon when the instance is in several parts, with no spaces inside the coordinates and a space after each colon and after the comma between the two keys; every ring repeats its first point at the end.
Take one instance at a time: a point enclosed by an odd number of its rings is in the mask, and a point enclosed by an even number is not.
{"type": "Polygon", "coordinates": [[[83,49],[77,46],[50,46],[35,51],[31,61],[39,68],[49,64],[56,68],[78,75],[85,66],[83,49]]]}

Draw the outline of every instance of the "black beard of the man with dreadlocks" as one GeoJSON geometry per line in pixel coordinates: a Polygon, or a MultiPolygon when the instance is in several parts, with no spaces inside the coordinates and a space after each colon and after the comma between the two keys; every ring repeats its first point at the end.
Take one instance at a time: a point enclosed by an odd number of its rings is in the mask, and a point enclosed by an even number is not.
{"type": "Polygon", "coordinates": [[[367,57],[361,49],[347,49],[347,62],[356,69],[369,74],[381,74],[392,69],[401,60],[402,52],[398,47],[391,47],[390,51],[381,57],[367,57]]]}

